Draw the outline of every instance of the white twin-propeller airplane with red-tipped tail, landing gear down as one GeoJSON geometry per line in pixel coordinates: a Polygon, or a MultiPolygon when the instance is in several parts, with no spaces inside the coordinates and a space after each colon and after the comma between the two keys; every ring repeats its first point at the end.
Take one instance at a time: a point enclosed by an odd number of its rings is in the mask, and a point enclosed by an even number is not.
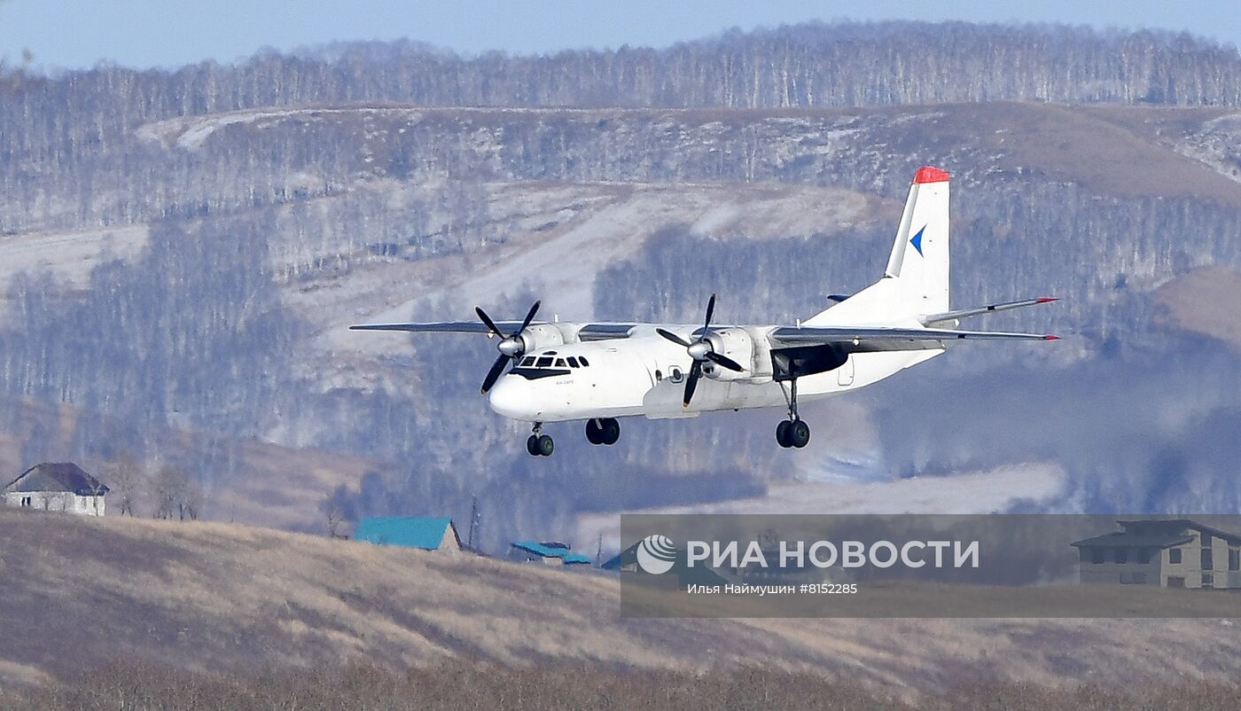
{"type": "Polygon", "coordinates": [[[586,422],[591,444],[612,445],[618,418],[697,417],[712,411],[784,407],[776,428],[783,448],[803,448],[810,428],[799,401],[879,382],[967,340],[1056,340],[1024,333],[957,330],[959,320],[1046,304],[1050,297],[952,309],[948,303],[947,171],[915,172],[884,275],[794,324],[714,324],[715,294],[702,325],[536,321],[539,302],[520,321],[366,324],[352,330],[467,333],[498,338],[483,380],[490,406],[532,423],[531,455],[547,457],[549,422],[586,422]],[[511,367],[510,367],[511,366],[511,367]],[[505,373],[505,369],[508,372],[505,373]]]}

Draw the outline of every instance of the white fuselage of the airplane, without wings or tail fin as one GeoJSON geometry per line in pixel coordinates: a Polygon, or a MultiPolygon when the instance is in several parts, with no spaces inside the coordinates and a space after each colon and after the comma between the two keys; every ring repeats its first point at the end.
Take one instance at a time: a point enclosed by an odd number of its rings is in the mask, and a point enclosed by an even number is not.
{"type": "MultiPolygon", "coordinates": [[[[680,330],[689,334],[691,329],[680,330]]],[[[851,354],[835,370],[798,378],[798,400],[819,400],[856,390],[917,365],[944,349],[851,354]]],[[[771,362],[748,367],[750,377],[699,381],[689,406],[684,406],[685,373],[692,360],[685,349],[658,335],[624,340],[573,342],[527,354],[567,361],[586,359],[588,366],[522,369],[500,377],[491,388],[490,406],[496,413],[525,422],[565,422],[604,417],[644,416],[650,419],[697,417],[704,412],[786,407],[789,383],[772,378],[771,362]],[[555,373],[555,375],[550,375],[555,373]],[[766,373],[766,375],[762,375],[766,373]]],[[[769,357],[757,354],[755,360],[769,357]]],[[[555,362],[555,361],[553,361],[555,362]]],[[[715,375],[727,376],[721,370],[715,375]]]]}

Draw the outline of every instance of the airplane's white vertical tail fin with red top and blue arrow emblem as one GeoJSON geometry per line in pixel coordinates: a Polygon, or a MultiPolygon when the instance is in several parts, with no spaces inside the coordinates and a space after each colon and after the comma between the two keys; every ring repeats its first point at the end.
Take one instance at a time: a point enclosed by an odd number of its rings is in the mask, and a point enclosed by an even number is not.
{"type": "Polygon", "coordinates": [[[913,174],[884,278],[807,325],[895,323],[948,310],[948,172],[913,174]]]}

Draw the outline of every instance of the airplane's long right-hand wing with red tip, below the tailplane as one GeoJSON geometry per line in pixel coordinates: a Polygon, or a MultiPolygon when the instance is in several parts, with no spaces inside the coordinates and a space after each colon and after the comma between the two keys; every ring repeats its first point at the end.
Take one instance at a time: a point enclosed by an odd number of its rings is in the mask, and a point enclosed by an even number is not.
{"type": "Polygon", "coordinates": [[[777,326],[773,346],[846,345],[851,351],[920,350],[959,340],[1054,341],[1060,336],[1004,331],[958,331],[900,326],[777,326]]]}

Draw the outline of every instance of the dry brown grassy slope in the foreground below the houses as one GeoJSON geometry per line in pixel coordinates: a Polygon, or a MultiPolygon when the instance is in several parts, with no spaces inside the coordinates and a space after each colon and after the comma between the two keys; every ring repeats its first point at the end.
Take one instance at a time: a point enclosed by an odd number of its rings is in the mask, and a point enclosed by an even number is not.
{"type": "Polygon", "coordinates": [[[759,665],[894,692],[989,680],[1222,679],[1226,620],[622,619],[618,583],[464,555],[225,524],[0,511],[9,684],[125,661],[403,669],[446,659],[622,669],[759,665]]]}

